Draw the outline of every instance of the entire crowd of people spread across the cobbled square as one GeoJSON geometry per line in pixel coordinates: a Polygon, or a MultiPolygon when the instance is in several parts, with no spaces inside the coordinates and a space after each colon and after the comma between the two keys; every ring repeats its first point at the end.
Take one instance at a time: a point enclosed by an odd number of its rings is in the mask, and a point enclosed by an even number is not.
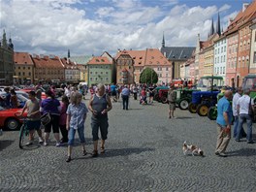
{"type": "MultiPolygon", "coordinates": [[[[140,104],[152,104],[154,97],[155,84],[98,84],[91,86],[88,90],[91,93],[88,108],[82,102],[85,99],[87,88],[64,86],[64,95],[59,99],[55,98],[54,87],[46,92],[46,99],[42,100],[42,92],[38,88],[36,91],[29,92],[29,100],[26,102],[20,116],[27,111],[27,127],[29,129],[29,142],[26,145],[33,144],[35,131],[39,136],[39,143],[48,145],[49,134],[52,131],[56,146],[68,144],[67,162],[72,160],[72,148],[74,145],[75,134],[78,132],[80,144],[82,146],[82,155],[86,155],[84,122],[87,112],[92,112],[91,129],[93,140],[93,151],[91,156],[98,156],[99,131],[101,134],[100,153],[105,153],[105,141],[108,139],[108,112],[112,110],[112,102],[118,102],[122,99],[122,109],[129,110],[129,99],[133,96],[134,100],[140,98],[140,104]],[[41,116],[49,114],[49,122],[42,125],[41,116]],[[44,128],[44,134],[42,133],[44,128]],[[60,134],[62,139],[60,139],[60,134]]],[[[176,118],[176,87],[171,84],[168,90],[169,118],[176,118]]],[[[11,108],[17,108],[15,90],[5,88],[6,97],[1,99],[4,105],[11,108]]],[[[249,97],[250,90],[237,89],[233,96],[231,90],[226,90],[217,104],[217,144],[215,154],[226,157],[226,149],[231,140],[231,125],[234,118],[233,137],[236,142],[241,138],[246,138],[248,144],[253,144],[252,140],[252,118],[249,110],[254,109],[254,103],[249,97]],[[232,101],[232,105],[231,102],[232,101]],[[247,131],[245,133],[242,125],[246,122],[247,131]]]]}

